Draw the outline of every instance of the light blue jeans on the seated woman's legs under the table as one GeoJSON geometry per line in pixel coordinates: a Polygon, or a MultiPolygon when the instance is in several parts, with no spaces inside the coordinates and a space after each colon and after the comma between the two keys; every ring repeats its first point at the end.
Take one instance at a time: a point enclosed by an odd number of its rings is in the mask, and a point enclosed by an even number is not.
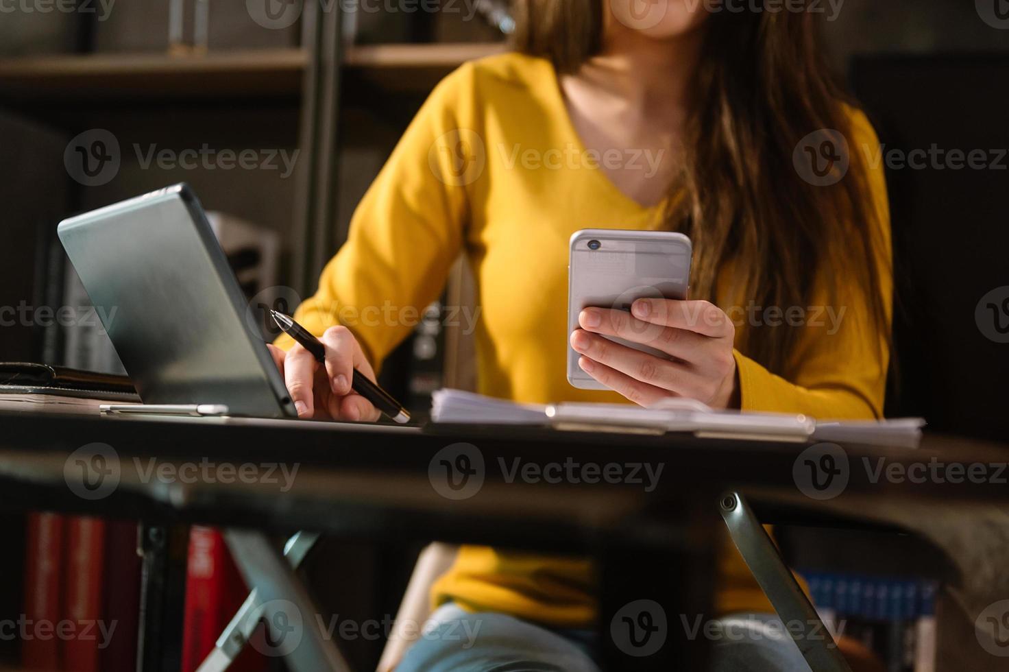
{"type": "MultiPolygon", "coordinates": [[[[776,617],[738,614],[719,624],[733,636],[711,643],[712,672],[809,672],[776,617]]],[[[449,603],[431,614],[396,672],[599,672],[597,661],[590,631],[548,630],[449,603]]]]}

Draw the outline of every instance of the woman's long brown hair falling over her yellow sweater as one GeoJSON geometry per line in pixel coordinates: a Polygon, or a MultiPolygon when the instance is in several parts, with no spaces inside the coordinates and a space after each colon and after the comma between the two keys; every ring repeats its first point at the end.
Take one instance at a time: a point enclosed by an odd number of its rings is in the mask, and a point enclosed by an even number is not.
{"type": "MultiPolygon", "coordinates": [[[[573,73],[602,45],[602,0],[518,0],[515,45],[573,73]]],[[[794,5],[792,6],[794,7],[794,5]]],[[[861,151],[844,179],[810,184],[793,164],[805,136],[832,129],[853,140],[852,103],[834,84],[809,11],[714,12],[706,17],[693,76],[683,169],[671,185],[668,226],[694,243],[693,298],[745,298],[756,306],[807,307],[816,296],[863,297],[859,309],[889,344],[882,241],[861,151]],[[733,287],[718,287],[732,263],[733,287]]],[[[860,316],[861,317],[861,316],[860,316]]],[[[794,371],[801,330],[740,331],[744,351],[772,371],[794,371]]]]}

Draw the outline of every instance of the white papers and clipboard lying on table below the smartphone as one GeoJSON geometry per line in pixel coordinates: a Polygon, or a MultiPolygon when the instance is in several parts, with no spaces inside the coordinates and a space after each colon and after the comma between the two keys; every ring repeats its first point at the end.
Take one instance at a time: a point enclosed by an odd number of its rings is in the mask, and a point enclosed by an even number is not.
{"type": "Polygon", "coordinates": [[[834,441],[916,448],[924,421],[817,423],[801,414],[714,411],[689,399],[669,399],[652,408],[630,404],[517,404],[461,389],[439,389],[432,398],[435,423],[530,425],[562,430],[610,430],[775,441],[834,441]]]}

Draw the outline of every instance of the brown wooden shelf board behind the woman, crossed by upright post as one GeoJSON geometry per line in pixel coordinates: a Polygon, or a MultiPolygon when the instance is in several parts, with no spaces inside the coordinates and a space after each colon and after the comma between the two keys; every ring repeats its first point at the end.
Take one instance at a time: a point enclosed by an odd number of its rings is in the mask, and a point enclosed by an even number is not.
{"type": "MultiPolygon", "coordinates": [[[[356,77],[410,92],[430,88],[465,61],[501,50],[496,43],[360,45],[347,50],[345,63],[356,77]]],[[[0,98],[45,102],[299,96],[307,65],[308,54],[300,48],[0,59],[0,98]]]]}

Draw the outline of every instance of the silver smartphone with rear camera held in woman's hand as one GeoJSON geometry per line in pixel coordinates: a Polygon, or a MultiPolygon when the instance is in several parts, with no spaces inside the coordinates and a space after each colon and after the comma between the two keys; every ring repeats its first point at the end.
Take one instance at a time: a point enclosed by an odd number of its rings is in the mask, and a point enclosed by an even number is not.
{"type": "MultiPolygon", "coordinates": [[[[568,261],[568,337],[588,307],[630,311],[636,299],[686,299],[690,285],[690,238],[669,231],[582,229],[571,236],[568,261]]],[[[654,328],[657,331],[659,328],[654,328]]],[[[616,343],[660,357],[669,355],[621,338],[616,343]]],[[[568,342],[568,382],[581,389],[607,389],[578,366],[568,342]]]]}

